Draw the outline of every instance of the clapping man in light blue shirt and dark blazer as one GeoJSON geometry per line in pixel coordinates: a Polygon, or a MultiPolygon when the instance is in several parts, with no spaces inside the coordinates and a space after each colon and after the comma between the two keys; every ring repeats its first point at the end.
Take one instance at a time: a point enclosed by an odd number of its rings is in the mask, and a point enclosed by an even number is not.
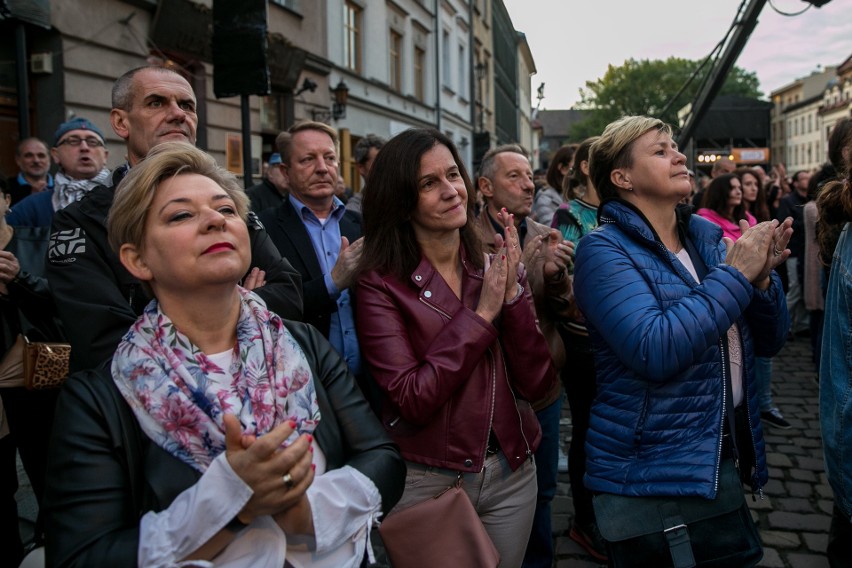
{"type": "Polygon", "coordinates": [[[358,376],[361,356],[349,288],[361,256],[361,216],[334,195],[337,132],[321,122],[300,122],[276,142],[290,194],[280,206],[263,211],[260,220],[302,274],[304,321],[328,338],[358,376]]]}

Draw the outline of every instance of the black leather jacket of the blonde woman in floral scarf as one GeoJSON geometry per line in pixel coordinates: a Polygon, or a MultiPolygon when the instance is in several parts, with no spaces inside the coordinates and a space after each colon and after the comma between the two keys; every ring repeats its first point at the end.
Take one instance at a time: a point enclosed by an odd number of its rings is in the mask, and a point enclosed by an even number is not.
{"type": "MultiPolygon", "coordinates": [[[[349,465],[378,488],[387,514],[405,484],[405,462],[370,411],[346,362],[317,330],[284,321],[314,375],[314,436],[328,469],[349,465]]],[[[109,366],[69,377],[57,403],[45,489],[47,566],[136,566],[139,519],[161,511],[200,474],[154,444],[112,380],[109,366]]]]}

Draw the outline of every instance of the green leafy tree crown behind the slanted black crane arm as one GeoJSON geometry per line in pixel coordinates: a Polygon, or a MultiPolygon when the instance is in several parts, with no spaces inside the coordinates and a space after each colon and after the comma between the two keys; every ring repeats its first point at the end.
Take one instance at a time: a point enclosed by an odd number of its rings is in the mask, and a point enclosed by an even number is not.
{"type": "MultiPolygon", "coordinates": [[[[586,81],[586,88],[580,89],[580,102],[575,108],[590,112],[588,118],[574,124],[571,139],[583,140],[598,135],[607,124],[628,114],[654,116],[677,125],[678,111],[693,102],[699,86],[709,73],[710,64],[701,69],[689,87],[667,109],[666,105],[700,65],[700,61],[680,57],[666,60],[628,59],[618,67],[610,65],[603,77],[586,81]]],[[[720,94],[762,96],[757,75],[736,66],[728,74],[720,94]]]]}

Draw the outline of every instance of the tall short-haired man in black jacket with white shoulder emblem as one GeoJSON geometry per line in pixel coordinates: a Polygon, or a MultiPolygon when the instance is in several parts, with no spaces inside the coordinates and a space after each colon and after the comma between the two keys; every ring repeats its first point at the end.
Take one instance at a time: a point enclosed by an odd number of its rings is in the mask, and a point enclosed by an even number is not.
{"type": "MultiPolygon", "coordinates": [[[[125,270],[107,242],[106,218],[114,188],[148,151],[167,141],[195,144],[196,98],[180,74],[162,67],[128,71],[112,89],[110,123],[127,141],[128,163],[113,172],[109,187],[98,186],[53,218],[47,279],[71,343],[71,371],[97,367],[112,357],[121,338],[150,297],[125,270]]],[[[252,214],[248,219],[254,267],[243,285],[269,309],[302,319],[299,273],[275,248],[252,214]]]]}

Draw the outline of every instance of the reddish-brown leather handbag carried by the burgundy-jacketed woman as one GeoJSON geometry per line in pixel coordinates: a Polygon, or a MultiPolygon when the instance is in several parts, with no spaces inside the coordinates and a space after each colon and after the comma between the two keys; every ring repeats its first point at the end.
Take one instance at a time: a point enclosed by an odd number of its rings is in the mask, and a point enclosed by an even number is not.
{"type": "Polygon", "coordinates": [[[394,568],[495,568],[500,555],[485,532],[462,478],[434,497],[395,512],[379,534],[394,568]]]}

